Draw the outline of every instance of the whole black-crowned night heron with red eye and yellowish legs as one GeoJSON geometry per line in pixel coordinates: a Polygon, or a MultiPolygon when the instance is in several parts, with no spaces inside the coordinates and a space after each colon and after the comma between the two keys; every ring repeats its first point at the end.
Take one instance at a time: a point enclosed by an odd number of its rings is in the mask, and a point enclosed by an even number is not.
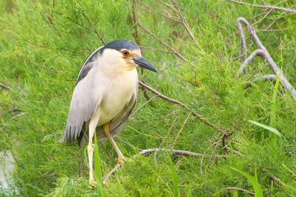
{"type": "Polygon", "coordinates": [[[98,139],[109,139],[118,155],[126,161],[112,137],[126,124],[137,103],[137,66],[157,72],[141,56],[140,47],[129,40],[114,40],[93,52],[82,65],[73,92],[65,134],[69,144],[88,142],[89,183],[94,184],[94,132],[98,139]],[[82,131],[82,132],[81,132],[82,131]]]}

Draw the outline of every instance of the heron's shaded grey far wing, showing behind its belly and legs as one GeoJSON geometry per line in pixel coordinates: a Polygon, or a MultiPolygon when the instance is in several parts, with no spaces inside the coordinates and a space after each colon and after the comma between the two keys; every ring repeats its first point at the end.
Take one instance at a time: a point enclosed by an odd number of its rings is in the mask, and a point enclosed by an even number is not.
{"type": "MultiPolygon", "coordinates": [[[[120,131],[122,131],[123,127],[125,126],[126,122],[128,121],[129,116],[133,112],[136,104],[137,104],[137,97],[138,97],[138,78],[137,78],[137,85],[132,95],[130,101],[124,107],[124,109],[119,113],[115,118],[110,121],[110,134],[112,137],[115,137],[120,131]]],[[[87,127],[87,125],[86,125],[87,127]]],[[[88,143],[88,128],[84,130],[85,134],[81,135],[78,139],[79,146],[82,146],[83,143],[88,143]]],[[[96,135],[97,139],[107,139],[105,132],[103,131],[103,125],[96,127],[96,135]]]]}

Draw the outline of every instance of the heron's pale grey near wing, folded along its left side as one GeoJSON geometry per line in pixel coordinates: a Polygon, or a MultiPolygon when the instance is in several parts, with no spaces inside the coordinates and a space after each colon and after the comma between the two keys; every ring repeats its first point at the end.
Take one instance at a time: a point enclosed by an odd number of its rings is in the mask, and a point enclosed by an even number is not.
{"type": "Polygon", "coordinates": [[[92,96],[93,78],[98,65],[95,60],[99,49],[91,54],[81,67],[71,100],[66,130],[60,142],[64,142],[67,138],[69,144],[73,143],[80,136],[83,125],[93,116],[102,100],[100,96],[98,98],[92,96]]]}

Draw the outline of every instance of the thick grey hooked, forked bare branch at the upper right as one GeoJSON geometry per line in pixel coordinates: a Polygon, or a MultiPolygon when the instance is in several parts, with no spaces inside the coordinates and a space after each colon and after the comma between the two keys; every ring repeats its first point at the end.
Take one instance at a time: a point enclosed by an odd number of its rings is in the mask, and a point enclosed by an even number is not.
{"type": "MultiPolygon", "coordinates": [[[[259,49],[255,50],[248,58],[246,58],[245,62],[242,64],[242,66],[239,68],[238,73],[241,73],[242,71],[245,70],[245,67],[256,57],[256,56],[260,56],[262,59],[266,60],[267,64],[269,65],[269,67],[271,68],[271,70],[278,75],[280,72],[280,68],[275,64],[275,62],[273,61],[273,59],[271,58],[271,56],[269,55],[269,53],[267,52],[267,50],[265,49],[265,47],[263,46],[263,44],[261,43],[261,41],[259,40],[256,31],[254,28],[252,28],[250,26],[250,24],[248,23],[248,21],[245,18],[238,18],[236,20],[237,22],[237,26],[238,29],[241,33],[241,39],[243,41],[243,45],[244,45],[244,50],[245,50],[245,54],[247,53],[247,49],[245,49],[245,36],[242,30],[242,26],[241,23],[243,23],[246,28],[248,29],[253,41],[258,45],[259,49]]],[[[283,73],[281,73],[280,76],[280,81],[284,84],[284,87],[287,91],[291,91],[292,97],[293,99],[296,100],[296,90],[293,88],[293,86],[289,83],[289,81],[287,80],[287,78],[285,77],[285,75],[283,73]]]]}

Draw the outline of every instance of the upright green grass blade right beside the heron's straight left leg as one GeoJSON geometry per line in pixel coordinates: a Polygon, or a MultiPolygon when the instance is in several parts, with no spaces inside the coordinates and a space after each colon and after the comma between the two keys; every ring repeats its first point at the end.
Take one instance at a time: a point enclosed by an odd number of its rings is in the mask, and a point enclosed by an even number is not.
{"type": "Polygon", "coordinates": [[[95,131],[95,177],[97,182],[97,190],[98,190],[98,197],[103,197],[103,180],[102,180],[102,171],[101,171],[101,164],[99,158],[99,150],[98,150],[98,143],[97,143],[97,135],[95,131]]]}

